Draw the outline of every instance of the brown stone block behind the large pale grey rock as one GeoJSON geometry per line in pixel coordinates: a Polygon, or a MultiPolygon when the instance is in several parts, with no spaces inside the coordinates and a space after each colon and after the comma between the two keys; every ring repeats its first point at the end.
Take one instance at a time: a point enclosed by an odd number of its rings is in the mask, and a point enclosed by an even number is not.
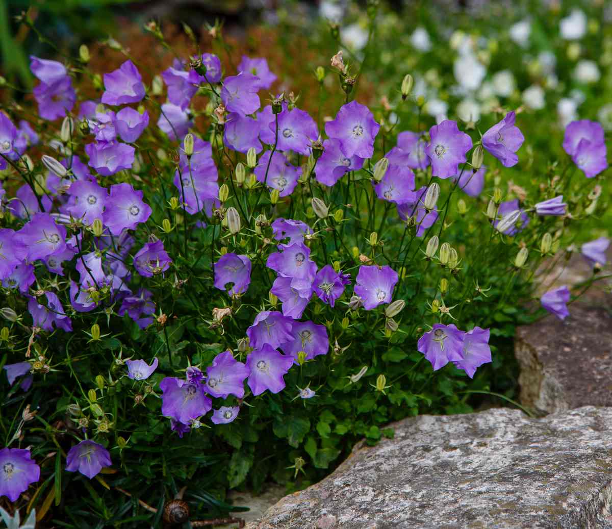
{"type": "Polygon", "coordinates": [[[570,305],[517,329],[521,402],[542,413],[581,406],[612,406],[612,317],[605,309],[570,305]]]}

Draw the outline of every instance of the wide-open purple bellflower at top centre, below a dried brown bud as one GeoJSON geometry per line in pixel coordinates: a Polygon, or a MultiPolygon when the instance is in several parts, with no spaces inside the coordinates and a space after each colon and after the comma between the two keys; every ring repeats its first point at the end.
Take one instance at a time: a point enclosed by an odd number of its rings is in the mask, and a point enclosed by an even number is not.
{"type": "Polygon", "coordinates": [[[325,124],[327,135],[340,141],[340,149],[348,158],[371,158],[380,128],[370,109],[356,101],[342,105],[336,118],[325,124]]]}

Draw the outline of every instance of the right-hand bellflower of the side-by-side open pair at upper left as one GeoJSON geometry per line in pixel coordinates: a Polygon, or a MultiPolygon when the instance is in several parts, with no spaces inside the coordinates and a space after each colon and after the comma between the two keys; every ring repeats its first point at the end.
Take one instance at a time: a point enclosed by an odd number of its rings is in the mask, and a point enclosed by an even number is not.
{"type": "Polygon", "coordinates": [[[106,203],[103,223],[113,235],[122,230],[134,230],[136,225],[151,216],[151,208],[143,202],[143,192],[135,191],[130,184],[111,186],[110,198],[106,203]]]}

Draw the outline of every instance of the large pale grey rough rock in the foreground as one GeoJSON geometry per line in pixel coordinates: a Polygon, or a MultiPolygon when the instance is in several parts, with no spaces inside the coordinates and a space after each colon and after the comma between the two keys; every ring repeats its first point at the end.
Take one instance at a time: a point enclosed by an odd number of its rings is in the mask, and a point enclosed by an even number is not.
{"type": "Polygon", "coordinates": [[[612,408],[419,416],[247,529],[610,529],[612,408]]]}

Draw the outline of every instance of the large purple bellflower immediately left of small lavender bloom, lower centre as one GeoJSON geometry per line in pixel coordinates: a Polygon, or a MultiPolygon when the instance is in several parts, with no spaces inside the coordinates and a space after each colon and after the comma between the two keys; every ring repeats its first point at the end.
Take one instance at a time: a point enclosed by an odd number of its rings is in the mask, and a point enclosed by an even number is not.
{"type": "Polygon", "coordinates": [[[163,391],[162,415],[182,424],[190,424],[212,408],[211,399],[204,393],[204,386],[200,382],[166,377],[159,387],[163,391]]]}

